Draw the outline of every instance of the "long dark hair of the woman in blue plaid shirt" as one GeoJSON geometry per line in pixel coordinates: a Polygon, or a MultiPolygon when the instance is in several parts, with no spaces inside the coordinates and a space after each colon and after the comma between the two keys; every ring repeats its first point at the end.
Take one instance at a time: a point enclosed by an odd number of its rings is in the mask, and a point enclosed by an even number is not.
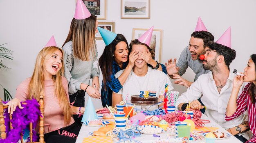
{"type": "MultiPolygon", "coordinates": [[[[113,61],[115,61],[114,55],[115,55],[115,50],[116,50],[116,45],[124,41],[127,44],[128,47],[128,42],[124,35],[117,34],[117,37],[112,41],[109,45],[106,45],[101,57],[99,58],[99,67],[101,68],[101,72],[103,75],[103,84],[104,84],[104,89],[105,91],[107,90],[106,83],[107,81],[110,81],[110,76],[113,73],[112,70],[112,64],[113,61]]],[[[129,62],[129,56],[127,56],[127,61],[126,63],[129,62]]],[[[124,66],[122,67],[124,68],[124,66]]]]}

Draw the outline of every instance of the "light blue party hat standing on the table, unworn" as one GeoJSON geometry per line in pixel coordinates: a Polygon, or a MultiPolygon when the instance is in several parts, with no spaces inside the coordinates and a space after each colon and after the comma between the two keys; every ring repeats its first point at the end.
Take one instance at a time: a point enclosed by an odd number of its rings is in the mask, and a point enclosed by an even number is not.
{"type": "Polygon", "coordinates": [[[82,122],[92,121],[95,119],[99,119],[99,118],[98,118],[95,108],[92,104],[92,99],[91,99],[91,97],[89,97],[86,108],[85,108],[85,112],[83,113],[82,122]]]}

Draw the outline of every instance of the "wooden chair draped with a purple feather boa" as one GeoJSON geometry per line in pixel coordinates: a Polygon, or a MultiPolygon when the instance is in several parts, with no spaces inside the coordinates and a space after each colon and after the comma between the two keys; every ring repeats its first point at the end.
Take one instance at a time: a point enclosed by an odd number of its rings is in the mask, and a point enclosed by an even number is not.
{"type": "MultiPolygon", "coordinates": [[[[43,122],[43,119],[44,119],[44,111],[43,111],[43,108],[44,108],[44,102],[43,102],[43,95],[40,95],[40,100],[39,100],[39,104],[40,104],[40,113],[42,115],[39,116],[39,142],[32,142],[32,137],[33,137],[33,133],[32,133],[32,122],[29,123],[29,130],[30,130],[30,142],[27,142],[27,143],[45,143],[45,139],[44,139],[44,128],[43,128],[43,125],[44,125],[44,122],[43,122]]],[[[4,109],[8,108],[8,106],[3,106],[2,104],[2,99],[0,98],[0,132],[1,132],[1,139],[6,139],[6,128],[5,128],[5,125],[4,125],[4,109]]],[[[18,108],[18,107],[17,107],[18,108]]],[[[12,115],[10,115],[10,120],[12,119],[12,115]]],[[[11,126],[11,122],[10,122],[10,130],[13,129],[13,127],[11,126]]],[[[21,136],[21,143],[23,143],[23,134],[21,133],[20,134],[21,136]]]]}

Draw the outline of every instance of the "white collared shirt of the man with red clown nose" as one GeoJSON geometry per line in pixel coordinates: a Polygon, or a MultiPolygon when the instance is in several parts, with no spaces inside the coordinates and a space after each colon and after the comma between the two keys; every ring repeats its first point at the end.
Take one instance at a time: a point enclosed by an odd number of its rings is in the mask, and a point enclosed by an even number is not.
{"type": "MultiPolygon", "coordinates": [[[[245,121],[245,114],[242,114],[231,121],[225,120],[227,103],[229,102],[235,76],[236,75],[230,70],[226,85],[219,93],[215,81],[213,80],[212,72],[202,74],[198,80],[193,82],[185,93],[180,95],[176,102],[176,108],[180,103],[188,103],[189,101],[198,100],[198,98],[202,96],[201,101],[204,106],[206,106],[205,115],[213,119],[217,124],[222,126],[222,128],[228,129],[238,126],[245,121]]],[[[243,83],[238,96],[242,93],[246,84],[247,83],[243,83]]]]}

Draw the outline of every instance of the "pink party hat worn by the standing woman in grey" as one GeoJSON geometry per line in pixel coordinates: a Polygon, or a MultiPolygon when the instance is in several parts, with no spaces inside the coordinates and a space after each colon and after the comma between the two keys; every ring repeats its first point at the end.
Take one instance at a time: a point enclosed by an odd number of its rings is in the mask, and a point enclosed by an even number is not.
{"type": "Polygon", "coordinates": [[[91,16],[90,11],[86,8],[82,0],[76,1],[76,12],[74,18],[76,20],[83,20],[91,16]]]}

